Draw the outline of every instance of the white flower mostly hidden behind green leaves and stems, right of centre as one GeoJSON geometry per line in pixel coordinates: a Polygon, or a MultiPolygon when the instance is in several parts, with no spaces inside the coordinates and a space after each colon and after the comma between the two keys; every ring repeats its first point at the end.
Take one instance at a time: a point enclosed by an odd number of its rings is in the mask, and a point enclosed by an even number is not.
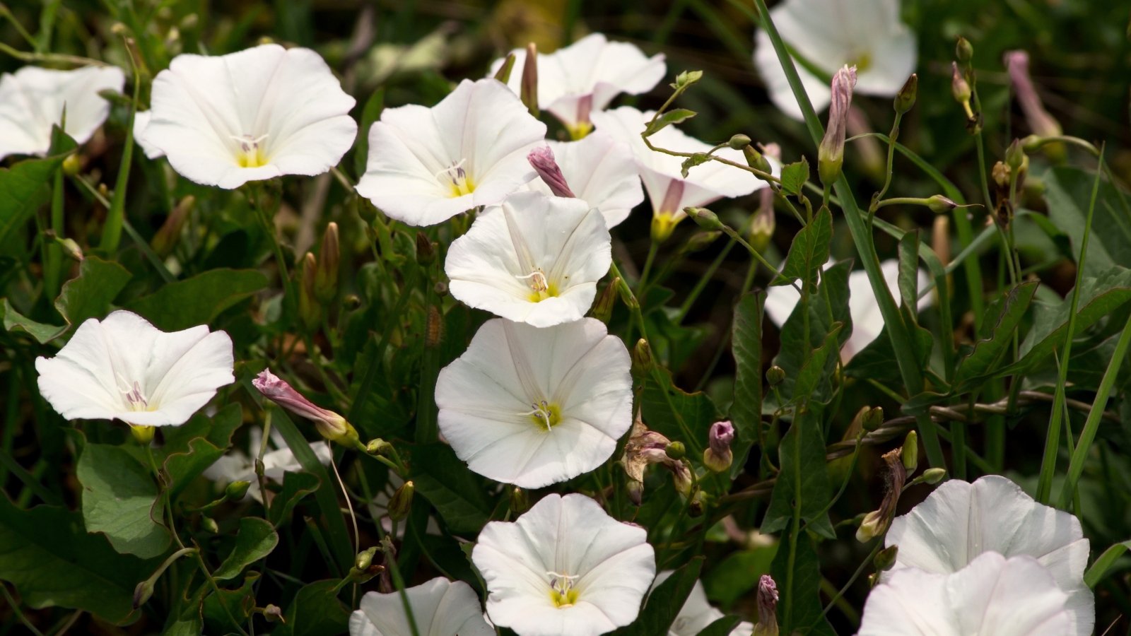
{"type": "MultiPolygon", "coordinates": [[[[826,269],[831,265],[832,260],[829,260],[824,265],[826,269]]],[[[898,302],[899,261],[884,260],[880,264],[880,269],[883,272],[883,282],[887,283],[888,290],[896,295],[898,302]]],[[[920,269],[917,289],[923,290],[930,283],[931,278],[927,273],[920,269]]],[[[766,292],[766,315],[780,327],[793,313],[800,299],[797,290],[793,289],[792,285],[769,287],[766,292]]],[[[922,311],[930,307],[931,302],[931,294],[921,298],[918,310],[922,311]]],[[[846,363],[852,360],[853,355],[871,344],[883,330],[883,315],[880,313],[880,306],[875,302],[875,294],[872,293],[872,283],[869,282],[867,273],[863,269],[848,274],[848,315],[852,316],[852,335],[840,347],[840,360],[846,363]]]]}

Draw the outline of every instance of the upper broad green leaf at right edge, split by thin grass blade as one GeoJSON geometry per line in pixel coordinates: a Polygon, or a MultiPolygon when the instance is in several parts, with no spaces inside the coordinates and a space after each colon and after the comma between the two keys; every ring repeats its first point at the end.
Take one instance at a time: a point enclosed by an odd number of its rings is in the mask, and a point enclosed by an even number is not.
{"type": "MultiPolygon", "coordinates": [[[[1068,166],[1054,167],[1044,175],[1048,217],[1068,234],[1073,256],[1080,253],[1095,181],[1094,171],[1068,166]]],[[[1096,276],[1113,265],[1131,267],[1131,210],[1124,206],[1115,187],[1100,180],[1083,274],[1096,276]]]]}

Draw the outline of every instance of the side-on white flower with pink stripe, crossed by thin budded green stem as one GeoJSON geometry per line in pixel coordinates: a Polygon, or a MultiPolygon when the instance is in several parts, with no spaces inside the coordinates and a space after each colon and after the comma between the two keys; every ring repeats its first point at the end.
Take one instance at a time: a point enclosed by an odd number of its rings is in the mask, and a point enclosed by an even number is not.
{"type": "MultiPolygon", "coordinates": [[[[651,111],[642,113],[633,108],[622,106],[593,113],[593,122],[598,131],[608,132],[632,151],[637,170],[640,171],[645,190],[651,200],[654,233],[658,224],[661,238],[666,239],[675,224],[687,216],[684,207],[705,206],[724,197],[741,197],[766,187],[765,181],[750,172],[715,161],[692,167],[684,178],[681,174],[682,157],[654,152],[640,137],[651,115],[651,111]]],[[[713,147],[688,137],[674,126],[665,127],[648,139],[657,148],[682,153],[706,153],[713,147]]],[[[720,148],[715,152],[715,156],[746,165],[740,151],[720,148]]],[[[775,165],[775,172],[777,170],[775,165]]]]}

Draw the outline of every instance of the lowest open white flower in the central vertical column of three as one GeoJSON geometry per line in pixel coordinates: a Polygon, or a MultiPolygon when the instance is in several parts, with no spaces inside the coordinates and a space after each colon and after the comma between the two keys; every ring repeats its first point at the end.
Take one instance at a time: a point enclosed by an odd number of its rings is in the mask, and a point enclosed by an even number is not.
{"type": "Polygon", "coordinates": [[[519,636],[596,636],[628,625],[656,575],[647,539],[584,495],[547,495],[515,523],[491,522],[472,550],[487,616],[519,636]]]}

